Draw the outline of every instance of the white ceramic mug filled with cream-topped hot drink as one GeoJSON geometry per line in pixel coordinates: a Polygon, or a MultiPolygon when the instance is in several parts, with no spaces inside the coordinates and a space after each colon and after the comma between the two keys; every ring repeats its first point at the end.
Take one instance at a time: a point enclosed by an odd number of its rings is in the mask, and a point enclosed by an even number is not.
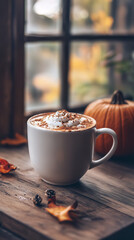
{"type": "Polygon", "coordinates": [[[116,133],[96,129],[96,121],[65,110],[38,114],[27,121],[31,163],[44,181],[55,185],[77,182],[88,169],[107,161],[117,147],[116,133]],[[93,160],[95,139],[110,134],[113,145],[99,160],[93,160]]]}

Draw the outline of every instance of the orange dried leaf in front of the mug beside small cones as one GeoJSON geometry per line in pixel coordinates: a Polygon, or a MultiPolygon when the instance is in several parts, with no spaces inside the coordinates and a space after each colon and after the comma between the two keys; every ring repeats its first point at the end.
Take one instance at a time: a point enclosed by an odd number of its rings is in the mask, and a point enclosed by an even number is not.
{"type": "MultiPolygon", "coordinates": [[[[52,190],[47,190],[52,191],[52,190]]],[[[48,197],[48,207],[46,208],[46,211],[49,212],[51,215],[56,217],[59,222],[63,221],[73,221],[74,218],[77,217],[76,213],[73,211],[77,208],[78,202],[75,201],[72,205],[69,205],[67,207],[65,206],[57,206],[56,205],[56,198],[52,195],[52,198],[50,195],[48,197]]]]}

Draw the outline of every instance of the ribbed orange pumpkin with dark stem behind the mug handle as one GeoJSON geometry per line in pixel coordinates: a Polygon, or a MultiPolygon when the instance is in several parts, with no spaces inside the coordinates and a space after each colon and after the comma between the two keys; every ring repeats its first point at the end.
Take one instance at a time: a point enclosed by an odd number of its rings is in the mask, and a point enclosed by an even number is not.
{"type": "MultiPolygon", "coordinates": [[[[112,128],[118,137],[115,155],[134,154],[134,102],[124,100],[121,91],[115,91],[112,99],[105,98],[89,104],[84,114],[97,121],[97,128],[112,128]]],[[[112,138],[101,135],[96,140],[96,152],[106,154],[112,145],[112,138]]]]}

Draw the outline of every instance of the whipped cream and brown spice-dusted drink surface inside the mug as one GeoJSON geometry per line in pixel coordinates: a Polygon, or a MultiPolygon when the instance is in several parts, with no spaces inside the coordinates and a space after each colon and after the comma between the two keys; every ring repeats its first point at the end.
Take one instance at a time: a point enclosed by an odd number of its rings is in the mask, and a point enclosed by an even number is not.
{"type": "Polygon", "coordinates": [[[39,114],[30,119],[34,126],[59,131],[79,131],[96,125],[93,118],[66,110],[39,114]]]}

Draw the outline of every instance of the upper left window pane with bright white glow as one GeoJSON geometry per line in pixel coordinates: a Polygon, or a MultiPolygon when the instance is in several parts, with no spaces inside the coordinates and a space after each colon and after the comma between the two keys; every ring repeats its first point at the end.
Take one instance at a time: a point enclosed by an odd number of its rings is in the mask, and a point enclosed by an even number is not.
{"type": "Polygon", "coordinates": [[[26,33],[58,33],[61,0],[26,0],[26,33]]]}

